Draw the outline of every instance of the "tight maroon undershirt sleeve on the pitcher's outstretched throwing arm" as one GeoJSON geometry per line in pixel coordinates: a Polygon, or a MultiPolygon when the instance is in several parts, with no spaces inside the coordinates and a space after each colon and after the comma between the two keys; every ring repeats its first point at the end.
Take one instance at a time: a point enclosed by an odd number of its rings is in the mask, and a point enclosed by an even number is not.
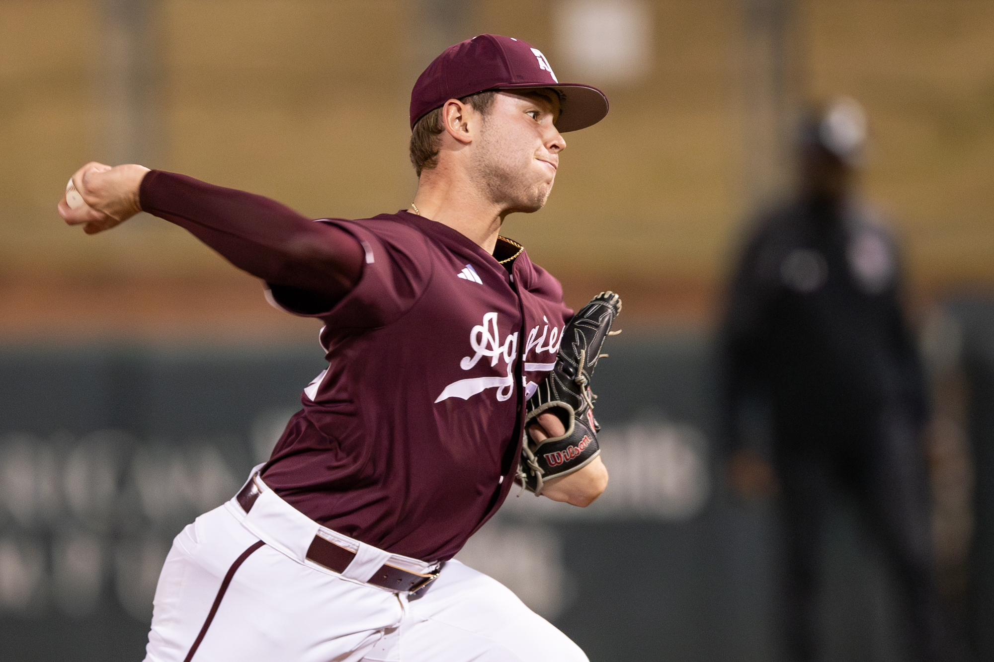
{"type": "Polygon", "coordinates": [[[362,274],[365,251],[352,235],[268,198],[161,170],[145,175],[139,195],[143,211],[271,285],[303,290],[316,305],[330,307],[362,274]]]}

